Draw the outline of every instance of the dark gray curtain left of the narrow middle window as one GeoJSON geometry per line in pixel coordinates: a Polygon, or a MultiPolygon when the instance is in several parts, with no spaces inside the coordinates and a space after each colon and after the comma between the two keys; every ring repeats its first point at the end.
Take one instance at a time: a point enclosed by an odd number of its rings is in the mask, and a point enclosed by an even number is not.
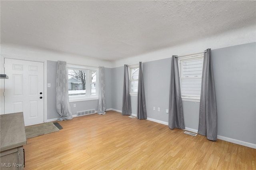
{"type": "Polygon", "coordinates": [[[123,105],[122,105],[122,115],[132,115],[132,105],[130,98],[130,88],[129,88],[129,73],[128,65],[124,65],[124,89],[123,89],[123,105]]]}

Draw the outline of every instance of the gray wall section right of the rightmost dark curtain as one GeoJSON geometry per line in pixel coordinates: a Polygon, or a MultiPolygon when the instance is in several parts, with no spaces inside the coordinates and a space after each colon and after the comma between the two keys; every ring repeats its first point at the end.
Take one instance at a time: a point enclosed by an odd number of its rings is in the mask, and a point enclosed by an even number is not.
{"type": "Polygon", "coordinates": [[[218,135],[256,144],[256,43],[212,50],[218,135]]]}

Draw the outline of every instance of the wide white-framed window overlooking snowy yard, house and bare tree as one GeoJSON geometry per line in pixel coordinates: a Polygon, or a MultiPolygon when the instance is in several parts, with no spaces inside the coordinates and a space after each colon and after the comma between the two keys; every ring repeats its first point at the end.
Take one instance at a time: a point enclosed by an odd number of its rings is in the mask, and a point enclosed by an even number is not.
{"type": "Polygon", "coordinates": [[[68,65],[67,67],[70,102],[98,99],[98,68],[78,65],[68,65]]]}

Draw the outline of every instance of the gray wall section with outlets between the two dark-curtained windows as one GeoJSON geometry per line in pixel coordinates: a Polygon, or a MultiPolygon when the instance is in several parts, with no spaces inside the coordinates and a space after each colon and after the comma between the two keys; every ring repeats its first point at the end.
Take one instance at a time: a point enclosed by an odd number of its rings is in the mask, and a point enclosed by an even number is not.
{"type": "Polygon", "coordinates": [[[168,122],[170,65],[170,58],[142,63],[147,116],[164,122],[168,122]],[[153,107],[156,107],[155,111],[153,107]]]}

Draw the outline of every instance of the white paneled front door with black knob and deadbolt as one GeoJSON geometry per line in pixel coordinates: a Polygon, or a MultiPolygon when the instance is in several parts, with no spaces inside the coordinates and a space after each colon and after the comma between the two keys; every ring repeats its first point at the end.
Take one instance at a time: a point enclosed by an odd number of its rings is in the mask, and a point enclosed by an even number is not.
{"type": "Polygon", "coordinates": [[[24,123],[44,122],[44,63],[4,59],[4,114],[23,112],[24,123]]]}

